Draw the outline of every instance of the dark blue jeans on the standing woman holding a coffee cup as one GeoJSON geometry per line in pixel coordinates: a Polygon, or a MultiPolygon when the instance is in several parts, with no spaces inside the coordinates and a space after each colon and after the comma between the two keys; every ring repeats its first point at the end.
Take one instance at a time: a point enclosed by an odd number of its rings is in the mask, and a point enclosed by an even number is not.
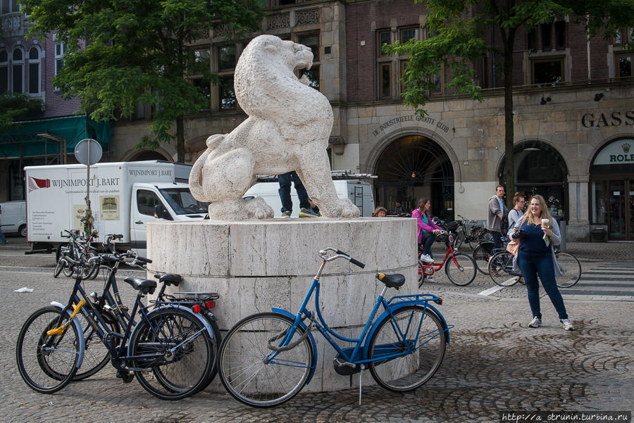
{"type": "Polygon", "coordinates": [[[537,274],[540,275],[544,291],[548,294],[550,302],[554,305],[559,319],[567,319],[566,307],[564,306],[564,298],[557,289],[557,283],[554,279],[554,263],[552,262],[551,253],[529,253],[519,250],[517,263],[522,271],[524,281],[526,281],[526,291],[528,292],[528,304],[533,317],[542,318],[540,310],[540,284],[537,282],[537,274]]]}

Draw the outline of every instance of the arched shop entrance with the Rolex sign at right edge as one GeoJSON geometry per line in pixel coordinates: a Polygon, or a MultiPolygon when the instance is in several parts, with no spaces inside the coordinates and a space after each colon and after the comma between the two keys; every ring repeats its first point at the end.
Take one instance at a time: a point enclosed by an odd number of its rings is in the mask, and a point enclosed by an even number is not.
{"type": "Polygon", "coordinates": [[[590,165],[590,225],[608,239],[634,241],[634,138],[602,146],[590,165]]]}

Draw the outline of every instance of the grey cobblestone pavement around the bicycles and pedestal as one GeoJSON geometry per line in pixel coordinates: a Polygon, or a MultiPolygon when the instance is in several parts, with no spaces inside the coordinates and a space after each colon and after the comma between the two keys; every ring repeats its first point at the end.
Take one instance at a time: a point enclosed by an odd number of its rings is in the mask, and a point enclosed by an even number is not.
{"type": "MultiPolygon", "coordinates": [[[[444,272],[423,289],[442,296],[439,309],[456,327],[442,367],[412,393],[366,386],[361,405],[358,391],[346,390],[300,393],[278,408],[254,409],[213,392],[219,388],[215,381],[196,396],[169,402],[154,398],[136,381],[123,384],[107,366],[58,393],[38,394],[16,370],[15,339],[26,317],[51,300],[66,298],[72,282],[53,279],[51,258],[31,256],[18,266],[13,253],[21,251],[0,251],[3,422],[497,422],[504,410],[631,410],[634,403],[634,302],[566,300],[576,330],[564,332],[552,305],[542,298],[545,326],[530,329],[523,286],[478,296],[492,286],[490,279],[478,275],[470,286],[459,287],[444,272]],[[34,291],[13,292],[22,286],[34,291]]],[[[601,263],[582,265],[588,270],[601,263]]],[[[96,281],[87,289],[100,287],[96,281]]],[[[320,365],[331,365],[331,360],[323,358],[320,365]]]]}

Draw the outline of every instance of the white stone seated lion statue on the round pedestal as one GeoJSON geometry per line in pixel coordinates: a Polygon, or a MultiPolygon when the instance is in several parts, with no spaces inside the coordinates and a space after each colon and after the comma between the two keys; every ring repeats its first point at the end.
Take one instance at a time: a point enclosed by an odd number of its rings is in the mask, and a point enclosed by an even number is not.
{"type": "Polygon", "coordinates": [[[260,35],[235,68],[235,96],[249,118],[229,134],[207,139],[189,175],[199,201],[210,201],[213,220],[273,217],[262,198],[242,196],[255,175],[297,171],[324,217],[358,217],[359,209],[337,198],[326,147],[332,130],[328,99],[297,75],[313,64],[311,49],[273,35],[260,35]]]}

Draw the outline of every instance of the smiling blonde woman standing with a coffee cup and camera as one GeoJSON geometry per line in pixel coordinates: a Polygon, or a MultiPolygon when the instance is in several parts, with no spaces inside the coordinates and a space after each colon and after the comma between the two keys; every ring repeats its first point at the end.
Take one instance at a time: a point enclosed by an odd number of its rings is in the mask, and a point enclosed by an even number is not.
{"type": "Polygon", "coordinates": [[[530,198],[529,206],[523,217],[516,222],[511,238],[520,239],[520,245],[513,260],[513,270],[521,270],[526,281],[528,304],[533,313],[533,320],[528,327],[542,326],[542,312],[540,310],[540,286],[548,294],[552,305],[559,314],[559,321],[564,329],[571,331],[573,324],[568,320],[564,299],[557,289],[556,276],[561,276],[552,246],[561,244],[561,234],[557,221],[548,213],[544,197],[535,195],[530,198]]]}

